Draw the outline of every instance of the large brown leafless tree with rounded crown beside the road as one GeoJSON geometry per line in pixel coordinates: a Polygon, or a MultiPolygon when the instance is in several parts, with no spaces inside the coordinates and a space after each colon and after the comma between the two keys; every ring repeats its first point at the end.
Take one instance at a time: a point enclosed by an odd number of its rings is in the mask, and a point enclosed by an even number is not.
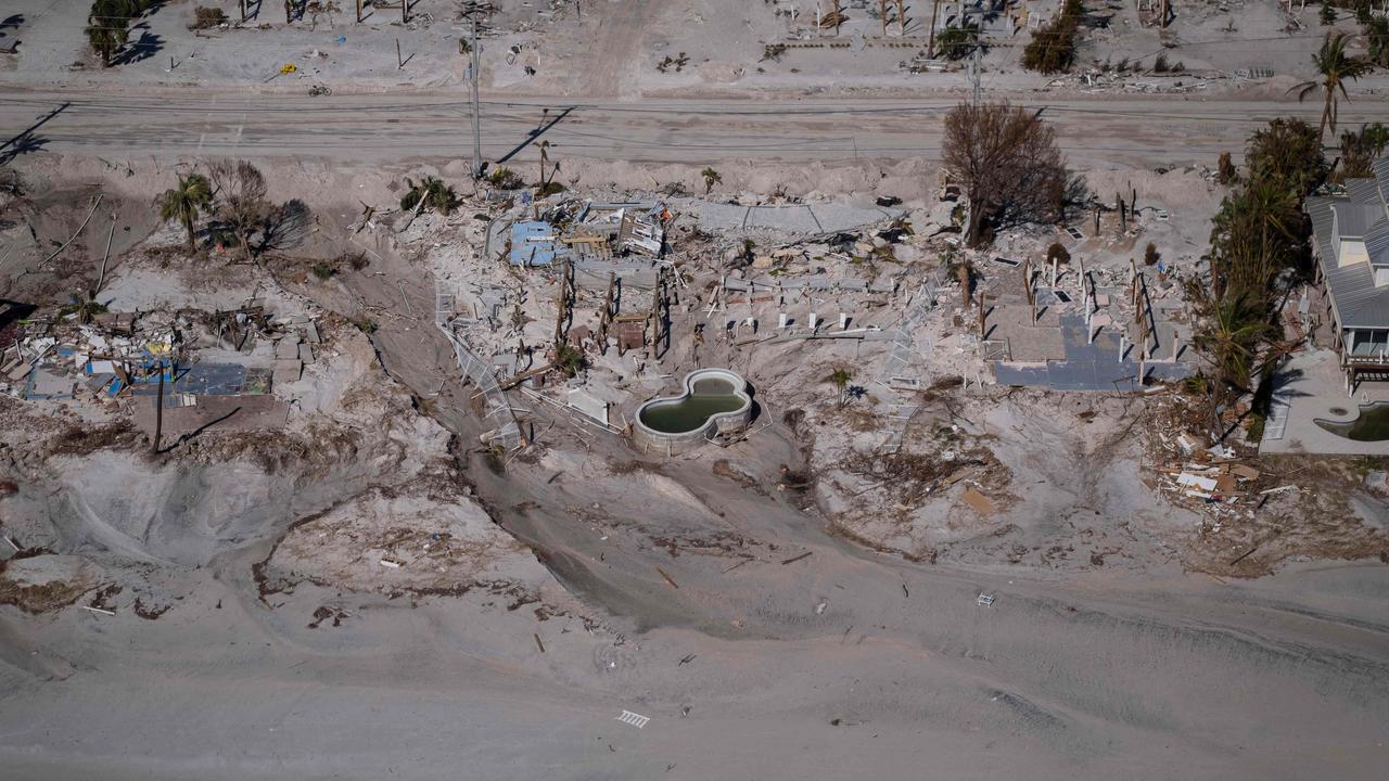
{"type": "Polygon", "coordinates": [[[999,225],[1060,220],[1065,158],[1056,131],[1035,114],[1003,103],[961,103],[946,114],[942,160],[970,200],[968,246],[988,243],[999,225]]]}

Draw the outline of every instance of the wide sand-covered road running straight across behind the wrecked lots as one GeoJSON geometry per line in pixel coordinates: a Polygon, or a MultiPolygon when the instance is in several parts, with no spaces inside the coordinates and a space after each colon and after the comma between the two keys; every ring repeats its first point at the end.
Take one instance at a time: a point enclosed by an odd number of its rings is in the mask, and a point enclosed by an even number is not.
{"type": "MultiPolygon", "coordinates": [[[[238,154],[326,156],[363,163],[471,154],[467,99],[461,94],[289,96],[147,93],[107,97],[82,92],[14,92],[0,100],[0,138],[10,139],[51,111],[33,131],[44,150],[103,156],[238,154]]],[[[643,163],[724,158],[843,160],[935,158],[940,117],[954,104],[929,100],[644,100],[640,103],[539,99],[483,103],[483,154],[533,158],[535,133],[553,156],[643,163]],[[558,121],[554,121],[558,117],[558,121]]],[[[1026,101],[1057,122],[1071,160],[1085,167],[1211,163],[1239,151],[1250,131],[1279,115],[1315,122],[1315,101],[1181,100],[1026,101]]],[[[1383,117],[1358,100],[1342,108],[1346,126],[1383,117]]],[[[32,145],[31,145],[32,146],[32,145]]],[[[8,149],[6,151],[10,151],[8,149]]]]}

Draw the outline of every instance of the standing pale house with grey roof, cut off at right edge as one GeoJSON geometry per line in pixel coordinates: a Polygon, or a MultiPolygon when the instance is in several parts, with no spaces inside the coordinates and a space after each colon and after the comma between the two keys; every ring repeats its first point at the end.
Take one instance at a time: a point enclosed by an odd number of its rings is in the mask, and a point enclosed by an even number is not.
{"type": "Polygon", "coordinates": [[[1374,174],[1349,179],[1345,196],[1307,199],[1317,282],[1351,390],[1389,379],[1389,157],[1374,174]]]}

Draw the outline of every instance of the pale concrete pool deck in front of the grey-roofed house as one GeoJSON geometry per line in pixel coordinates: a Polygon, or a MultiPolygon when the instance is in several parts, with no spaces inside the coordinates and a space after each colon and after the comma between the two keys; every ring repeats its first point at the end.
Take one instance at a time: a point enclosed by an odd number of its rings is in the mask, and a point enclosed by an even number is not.
{"type": "Polygon", "coordinates": [[[1274,390],[1274,413],[1264,427],[1260,453],[1317,453],[1325,456],[1389,456],[1389,442],[1356,442],[1317,425],[1315,418],[1351,420],[1361,404],[1389,402],[1389,382],[1361,382],[1351,399],[1331,350],[1303,353],[1281,370],[1274,390]],[[1279,410],[1278,407],[1283,407],[1279,410]],[[1332,407],[1346,414],[1332,413],[1332,407]],[[1278,418],[1286,422],[1278,425],[1278,418]],[[1282,436],[1276,436],[1282,429],[1282,436]]]}

